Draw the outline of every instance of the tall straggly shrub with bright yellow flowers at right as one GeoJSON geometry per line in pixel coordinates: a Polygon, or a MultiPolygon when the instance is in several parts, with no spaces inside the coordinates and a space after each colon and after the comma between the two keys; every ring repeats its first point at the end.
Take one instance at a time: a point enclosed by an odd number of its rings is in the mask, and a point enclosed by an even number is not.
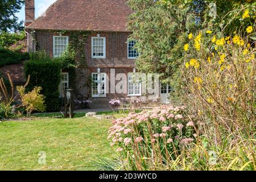
{"type": "MultiPolygon", "coordinates": [[[[246,30],[250,35],[251,27],[246,30]]],[[[237,32],[223,36],[208,30],[193,35],[189,48],[184,49],[184,90],[188,91],[184,96],[203,123],[210,119],[221,126],[216,128],[219,139],[255,121],[256,49],[251,40],[237,32]]]]}

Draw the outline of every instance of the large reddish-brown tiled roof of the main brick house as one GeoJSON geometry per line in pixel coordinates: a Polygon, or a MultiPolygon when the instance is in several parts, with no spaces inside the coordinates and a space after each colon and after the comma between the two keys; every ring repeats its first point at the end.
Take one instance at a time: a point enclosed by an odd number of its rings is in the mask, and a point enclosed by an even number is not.
{"type": "Polygon", "coordinates": [[[127,31],[133,11],[127,0],[57,0],[28,28],[35,30],[127,31]]]}

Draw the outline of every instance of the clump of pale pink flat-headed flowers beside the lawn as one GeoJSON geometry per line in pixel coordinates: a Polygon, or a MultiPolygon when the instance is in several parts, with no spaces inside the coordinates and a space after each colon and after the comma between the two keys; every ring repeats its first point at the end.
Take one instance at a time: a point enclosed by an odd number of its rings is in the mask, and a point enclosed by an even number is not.
{"type": "Polygon", "coordinates": [[[195,141],[196,125],[185,107],[164,105],[154,110],[130,113],[113,121],[109,129],[111,146],[117,148],[131,166],[139,169],[143,158],[156,158],[159,165],[176,158],[180,148],[195,141]]]}

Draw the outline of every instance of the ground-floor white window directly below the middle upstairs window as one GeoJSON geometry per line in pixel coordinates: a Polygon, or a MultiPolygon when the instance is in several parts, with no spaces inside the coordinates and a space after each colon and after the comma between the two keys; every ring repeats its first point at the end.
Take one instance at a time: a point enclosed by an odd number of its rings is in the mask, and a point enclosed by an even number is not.
{"type": "Polygon", "coordinates": [[[92,97],[106,97],[106,73],[92,73],[92,97]]]}

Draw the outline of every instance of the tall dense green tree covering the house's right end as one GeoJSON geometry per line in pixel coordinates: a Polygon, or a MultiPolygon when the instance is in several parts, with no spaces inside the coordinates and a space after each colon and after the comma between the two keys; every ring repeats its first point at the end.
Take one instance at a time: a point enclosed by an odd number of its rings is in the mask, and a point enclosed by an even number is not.
{"type": "Polygon", "coordinates": [[[137,59],[139,71],[160,73],[162,80],[170,81],[182,63],[185,32],[196,27],[188,5],[189,1],[129,1],[135,10],[129,18],[129,30],[141,53],[137,59]]]}

